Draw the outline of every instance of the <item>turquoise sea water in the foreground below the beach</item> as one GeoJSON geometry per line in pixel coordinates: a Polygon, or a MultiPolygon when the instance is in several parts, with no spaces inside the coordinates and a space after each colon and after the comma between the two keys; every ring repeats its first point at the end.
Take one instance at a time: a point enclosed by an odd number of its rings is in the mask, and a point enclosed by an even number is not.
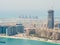
{"type": "Polygon", "coordinates": [[[0,38],[0,45],[60,45],[60,44],[26,39],[0,38]]]}

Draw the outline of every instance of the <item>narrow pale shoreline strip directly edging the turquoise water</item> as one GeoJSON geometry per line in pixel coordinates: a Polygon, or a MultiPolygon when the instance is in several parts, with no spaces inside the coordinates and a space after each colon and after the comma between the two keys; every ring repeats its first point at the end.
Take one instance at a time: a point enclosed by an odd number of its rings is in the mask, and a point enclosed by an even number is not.
{"type": "Polygon", "coordinates": [[[35,41],[42,41],[42,42],[49,42],[49,43],[55,43],[55,44],[60,44],[60,41],[59,43],[56,41],[53,41],[53,40],[46,40],[44,38],[38,38],[38,37],[15,37],[15,36],[0,36],[0,37],[3,37],[3,38],[13,38],[13,39],[26,39],[26,40],[35,40],[35,41]]]}

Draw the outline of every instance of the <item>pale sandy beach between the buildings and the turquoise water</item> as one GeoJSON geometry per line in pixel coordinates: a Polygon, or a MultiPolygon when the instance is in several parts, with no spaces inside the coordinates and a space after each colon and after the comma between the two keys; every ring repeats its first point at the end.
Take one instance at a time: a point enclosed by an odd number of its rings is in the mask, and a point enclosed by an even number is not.
{"type": "Polygon", "coordinates": [[[49,39],[44,39],[44,38],[38,38],[38,37],[31,37],[31,36],[23,36],[22,34],[18,34],[15,36],[1,36],[4,38],[14,38],[14,39],[26,39],[26,40],[36,40],[36,41],[43,41],[43,42],[49,42],[49,43],[57,43],[60,44],[60,40],[49,40],[49,39]]]}

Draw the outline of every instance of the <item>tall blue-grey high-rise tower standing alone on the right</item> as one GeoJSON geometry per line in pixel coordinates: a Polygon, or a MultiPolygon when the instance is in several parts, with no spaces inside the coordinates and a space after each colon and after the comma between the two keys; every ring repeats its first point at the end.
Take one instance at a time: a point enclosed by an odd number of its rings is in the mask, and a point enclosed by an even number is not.
{"type": "Polygon", "coordinates": [[[49,29],[54,28],[54,11],[53,10],[48,11],[48,28],[49,29]]]}

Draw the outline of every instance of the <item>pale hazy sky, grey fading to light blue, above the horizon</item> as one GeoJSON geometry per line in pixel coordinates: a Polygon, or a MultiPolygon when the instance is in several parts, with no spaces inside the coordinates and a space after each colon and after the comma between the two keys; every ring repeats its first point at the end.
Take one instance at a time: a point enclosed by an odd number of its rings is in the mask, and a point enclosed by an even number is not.
{"type": "Polygon", "coordinates": [[[54,10],[55,17],[60,18],[59,4],[60,0],[0,0],[0,18],[38,16],[45,19],[50,9],[54,10]]]}

